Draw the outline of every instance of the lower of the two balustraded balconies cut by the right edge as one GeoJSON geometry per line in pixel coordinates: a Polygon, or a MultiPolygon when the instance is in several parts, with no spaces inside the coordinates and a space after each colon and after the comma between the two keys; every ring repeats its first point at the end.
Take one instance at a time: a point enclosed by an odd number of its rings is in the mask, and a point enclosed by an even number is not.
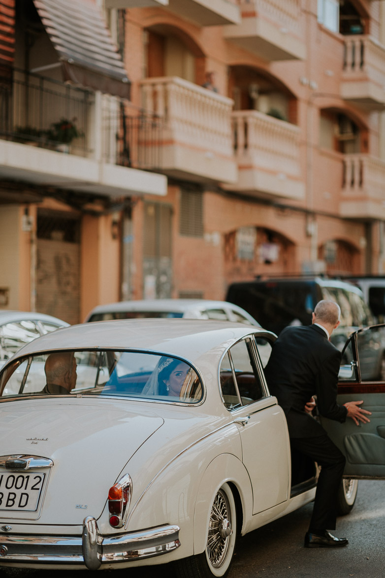
{"type": "Polygon", "coordinates": [[[384,182],[384,161],[365,154],[345,155],[341,216],[385,220],[384,182]]]}

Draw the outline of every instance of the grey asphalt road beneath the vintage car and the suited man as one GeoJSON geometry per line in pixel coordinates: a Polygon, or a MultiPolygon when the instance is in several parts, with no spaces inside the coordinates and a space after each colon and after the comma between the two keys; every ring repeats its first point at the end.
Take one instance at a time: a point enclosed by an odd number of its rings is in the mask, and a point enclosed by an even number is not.
{"type": "MultiPolygon", "coordinates": [[[[385,578],[385,481],[360,481],[356,504],[338,519],[335,534],[346,536],[341,549],[305,549],[303,540],[312,504],[240,538],[228,578],[385,578]]],[[[20,578],[47,578],[52,572],[19,570],[20,578]]],[[[0,570],[0,577],[8,572],[0,570]]],[[[89,572],[56,571],[55,578],[177,578],[170,565],[89,572]]]]}

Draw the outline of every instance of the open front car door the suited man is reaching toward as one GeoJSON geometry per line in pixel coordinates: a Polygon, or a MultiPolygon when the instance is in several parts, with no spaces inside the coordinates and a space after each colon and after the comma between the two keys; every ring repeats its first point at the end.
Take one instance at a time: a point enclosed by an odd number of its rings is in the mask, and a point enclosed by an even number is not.
{"type": "Polygon", "coordinates": [[[321,418],[323,427],[346,456],[344,476],[385,479],[385,324],[354,332],[342,351],[340,404],[360,401],[372,412],[370,423],[344,424],[321,418]]]}

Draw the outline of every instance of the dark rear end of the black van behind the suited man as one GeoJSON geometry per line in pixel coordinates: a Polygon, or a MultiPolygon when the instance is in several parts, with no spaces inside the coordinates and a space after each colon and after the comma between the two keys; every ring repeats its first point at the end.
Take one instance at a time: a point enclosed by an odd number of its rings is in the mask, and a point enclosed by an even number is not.
{"type": "Polygon", "coordinates": [[[286,325],[309,325],[319,299],[314,281],[274,280],[234,283],[226,297],[276,334],[286,325]]]}

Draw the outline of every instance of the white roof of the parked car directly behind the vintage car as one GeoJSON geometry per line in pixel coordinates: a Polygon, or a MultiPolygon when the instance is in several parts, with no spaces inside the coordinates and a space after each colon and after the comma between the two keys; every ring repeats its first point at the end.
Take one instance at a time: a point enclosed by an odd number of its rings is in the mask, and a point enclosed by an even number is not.
{"type": "Polygon", "coordinates": [[[175,312],[185,313],[193,308],[208,309],[208,308],[228,307],[246,313],[247,317],[251,317],[249,313],[245,312],[242,307],[234,305],[228,301],[214,301],[212,299],[137,299],[135,301],[117,301],[116,303],[106,303],[106,305],[98,305],[92,309],[86,319],[89,319],[94,313],[113,313],[113,312],[175,312]]]}

